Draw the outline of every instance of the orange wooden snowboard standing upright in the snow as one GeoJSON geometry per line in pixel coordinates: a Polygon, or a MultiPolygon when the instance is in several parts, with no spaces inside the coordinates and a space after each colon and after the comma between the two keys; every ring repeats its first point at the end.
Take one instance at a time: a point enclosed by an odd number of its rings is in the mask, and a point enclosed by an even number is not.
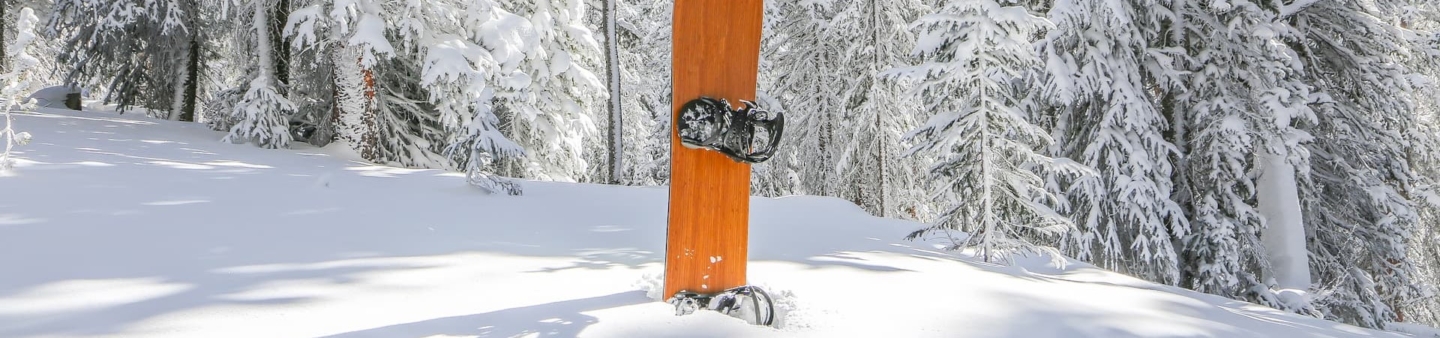
{"type": "MultiPolygon", "coordinates": [[[[762,0],[678,0],[671,111],[700,96],[755,99],[762,0]]],[[[680,144],[671,119],[665,298],[743,286],[750,236],[750,165],[680,144]]]]}

